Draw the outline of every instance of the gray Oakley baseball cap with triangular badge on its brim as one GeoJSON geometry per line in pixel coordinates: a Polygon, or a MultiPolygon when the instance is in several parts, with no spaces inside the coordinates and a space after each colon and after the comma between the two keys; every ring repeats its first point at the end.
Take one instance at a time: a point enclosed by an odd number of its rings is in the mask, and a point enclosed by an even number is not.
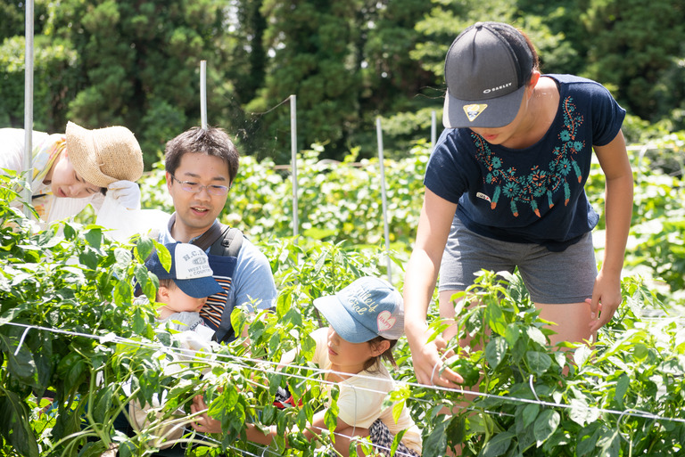
{"type": "Polygon", "coordinates": [[[477,22],[452,42],[445,58],[447,128],[506,126],[518,113],[533,55],[524,35],[502,22],[477,22]]]}

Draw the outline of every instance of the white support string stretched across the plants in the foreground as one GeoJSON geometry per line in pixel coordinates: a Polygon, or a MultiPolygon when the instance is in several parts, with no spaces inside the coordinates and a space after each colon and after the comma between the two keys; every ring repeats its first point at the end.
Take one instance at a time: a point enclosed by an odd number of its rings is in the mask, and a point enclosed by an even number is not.
{"type": "MultiPolygon", "coordinates": [[[[193,351],[190,349],[183,349],[179,347],[166,347],[161,344],[153,344],[153,343],[145,343],[143,341],[136,341],[134,339],[125,339],[122,337],[118,337],[113,334],[108,334],[108,335],[103,335],[103,336],[98,336],[98,335],[92,335],[92,334],[87,334],[87,333],[80,333],[76,331],[63,331],[60,329],[52,329],[52,328],[47,328],[47,327],[40,327],[40,326],[35,326],[35,325],[27,325],[23,323],[16,323],[16,322],[4,322],[1,325],[14,325],[17,327],[22,327],[22,328],[29,328],[29,329],[34,329],[38,331],[52,331],[54,333],[61,333],[65,335],[71,335],[71,336],[77,336],[77,337],[84,337],[84,338],[90,338],[90,339],[99,339],[101,343],[106,343],[106,342],[115,342],[115,343],[120,343],[120,344],[128,344],[132,346],[138,346],[138,347],[148,347],[148,348],[154,348],[157,350],[161,351],[167,351],[167,352],[177,352],[179,354],[185,354],[185,355],[195,355],[196,359],[195,361],[197,362],[208,362],[207,360],[207,352],[202,352],[202,351],[193,351]]],[[[219,358],[227,358],[231,359],[235,362],[238,363],[243,363],[241,366],[246,369],[250,369],[252,371],[263,371],[265,373],[274,373],[273,370],[268,370],[266,367],[260,367],[259,364],[261,365],[273,365],[273,366],[279,366],[281,363],[277,362],[270,362],[270,361],[265,361],[265,360],[260,360],[260,359],[252,359],[249,357],[242,357],[242,356],[237,356],[237,355],[227,355],[227,354],[212,354],[215,356],[218,356],[219,358]],[[248,365],[246,362],[249,363],[255,363],[257,364],[256,366],[248,365]]],[[[229,363],[229,362],[221,362],[219,360],[212,361],[214,363],[229,363]]],[[[231,362],[231,363],[235,363],[231,362]]],[[[347,373],[342,373],[340,371],[333,371],[333,370],[323,370],[323,369],[317,369],[314,367],[309,367],[309,366],[301,366],[301,365],[294,365],[294,364],[288,364],[287,365],[289,368],[301,370],[301,371],[314,371],[314,373],[335,373],[335,374],[347,374],[347,373]]],[[[286,378],[293,378],[293,379],[303,379],[303,380],[312,380],[316,381],[322,384],[335,384],[333,381],[327,381],[325,379],[318,379],[315,378],[314,376],[301,376],[293,373],[287,373],[287,372],[280,372],[278,373],[282,376],[285,376],[286,378]]],[[[360,378],[367,378],[367,379],[377,379],[374,377],[366,377],[364,375],[357,375],[360,378]]],[[[671,418],[671,417],[665,417],[665,416],[660,416],[657,414],[653,414],[651,412],[645,412],[645,411],[640,411],[640,410],[635,410],[635,409],[628,409],[625,411],[617,411],[617,410],[611,410],[607,408],[598,408],[598,407],[593,407],[593,406],[579,406],[579,405],[570,405],[570,404],[557,404],[557,403],[552,403],[552,402],[547,402],[544,400],[540,399],[535,399],[532,400],[530,398],[520,398],[516,396],[497,396],[497,395],[492,395],[492,394],[487,394],[484,392],[477,392],[473,390],[464,390],[462,388],[443,388],[440,386],[426,386],[423,384],[418,384],[416,382],[409,382],[409,381],[403,381],[403,380],[395,380],[395,385],[398,387],[408,387],[408,388],[422,388],[422,389],[431,389],[435,391],[440,391],[440,392],[445,392],[445,393],[451,393],[451,394],[462,394],[462,395],[472,395],[472,396],[482,396],[484,398],[494,398],[494,399],[499,399],[499,400],[506,400],[509,402],[515,402],[515,403],[523,403],[523,404],[538,404],[540,406],[548,406],[551,408],[562,408],[562,409],[584,409],[589,412],[596,412],[599,414],[602,413],[607,413],[607,414],[612,414],[615,416],[619,417],[638,417],[641,419],[649,419],[649,420],[663,420],[663,421],[671,421],[671,422],[680,422],[680,423],[685,423],[685,419],[680,419],[680,418],[671,418]]],[[[384,391],[378,391],[370,388],[359,388],[359,390],[366,390],[368,392],[383,392],[384,391]]],[[[533,394],[534,395],[534,394],[533,394]]],[[[414,396],[409,396],[410,400],[414,401],[420,401],[419,398],[414,397],[414,396]]]]}

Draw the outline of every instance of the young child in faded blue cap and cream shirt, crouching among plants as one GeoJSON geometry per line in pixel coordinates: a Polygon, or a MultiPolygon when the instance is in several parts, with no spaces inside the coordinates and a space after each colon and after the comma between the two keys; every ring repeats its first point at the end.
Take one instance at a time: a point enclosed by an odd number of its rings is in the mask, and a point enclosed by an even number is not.
{"type": "MultiPolygon", "coordinates": [[[[334,296],[317,298],[314,306],[330,326],[311,334],[317,342],[312,362],[330,370],[326,380],[336,383],[340,389],[336,451],[349,455],[349,437],[370,437],[377,452],[390,455],[394,436],[407,430],[395,455],[421,455],[421,434],[407,408],[402,410],[397,422],[392,418],[392,407],[383,408],[393,381],[382,359],[395,365],[392,347],[404,329],[400,292],[381,279],[363,277],[334,296]]],[[[330,385],[326,384],[325,388],[330,389],[330,385]]],[[[191,410],[206,409],[202,396],[195,397],[191,410]]],[[[312,438],[326,429],[325,415],[326,410],[314,415],[310,427],[303,430],[306,437],[312,438]]],[[[221,431],[219,420],[206,413],[199,416],[193,428],[205,433],[221,431]]],[[[263,445],[271,444],[276,433],[276,426],[266,435],[252,425],[247,429],[248,439],[263,445]]],[[[360,449],[358,452],[362,455],[360,449]]]]}

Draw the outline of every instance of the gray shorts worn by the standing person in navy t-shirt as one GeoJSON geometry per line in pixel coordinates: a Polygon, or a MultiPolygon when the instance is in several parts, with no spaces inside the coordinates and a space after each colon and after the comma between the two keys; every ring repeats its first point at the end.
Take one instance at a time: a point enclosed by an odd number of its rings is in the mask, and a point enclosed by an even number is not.
{"type": "Polygon", "coordinates": [[[438,290],[466,290],[475,273],[518,271],[533,303],[580,303],[592,298],[597,276],[592,233],[561,252],[534,243],[499,241],[473,233],[458,217],[442,254],[438,290]]]}

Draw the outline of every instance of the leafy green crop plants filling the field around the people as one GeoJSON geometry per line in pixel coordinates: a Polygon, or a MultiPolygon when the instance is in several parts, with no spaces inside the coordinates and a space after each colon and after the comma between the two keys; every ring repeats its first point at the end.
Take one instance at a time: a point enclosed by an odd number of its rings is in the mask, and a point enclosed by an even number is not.
{"type": "MultiPolygon", "coordinates": [[[[153,242],[142,238],[120,245],[85,220],[32,234],[23,216],[7,208],[14,194],[6,185],[11,179],[2,178],[0,453],[87,456],[118,449],[122,456],[150,455],[167,433],[160,424],[191,420],[189,403],[201,392],[226,433],[202,442],[192,432],[177,438],[199,443],[195,455],[262,454],[241,439],[245,422],[276,425],[294,446],[285,451],[279,438],[266,454],[322,453],[292,432],[322,403],[322,375],[309,363],[308,335],[325,322],[311,301],[360,275],[387,271],[378,161],[356,162],[351,154],[337,164],[319,160],[319,153],[304,151],[298,164],[302,235],[297,239],[291,236],[287,203],[292,183],[271,161],[243,158],[231,191],[224,222],[241,227],[260,245],[279,290],[274,313],[233,315],[236,327],[249,325],[251,354],[238,341],[215,347],[213,355],[179,359],[169,331],[154,328],[152,307],[132,304],[134,278],[153,296],[155,279],[140,261],[153,242]],[[280,356],[293,348],[295,363],[276,370],[280,356]],[[272,402],[279,387],[290,388],[301,405],[277,409],[272,402]],[[135,437],[114,431],[114,420],[128,414],[130,404],[153,403],[161,395],[166,403],[153,409],[135,437]]],[[[398,287],[429,153],[419,143],[410,158],[385,163],[392,281],[398,287]]],[[[415,384],[409,347],[400,340],[395,349],[400,368],[393,371],[400,384],[391,399],[407,404],[423,428],[425,456],[443,455],[447,446],[483,457],[682,453],[685,187],[678,175],[660,171],[654,159],[639,152],[633,159],[636,199],[625,301],[594,347],[548,347],[549,330],[520,278],[494,273],[483,273],[469,291],[480,306],[465,310],[459,321],[460,331],[481,345],[455,347],[458,358],[449,361],[479,394],[415,384]],[[445,407],[453,414],[445,415],[445,407]]],[[[144,178],[144,201],[170,210],[162,181],[158,165],[144,178]]],[[[596,168],[588,191],[598,209],[603,185],[596,168]]],[[[602,228],[595,237],[598,249],[602,228]]],[[[433,328],[441,331],[436,313],[433,308],[433,328]]],[[[320,443],[329,439],[330,430],[324,430],[320,443]]]]}

